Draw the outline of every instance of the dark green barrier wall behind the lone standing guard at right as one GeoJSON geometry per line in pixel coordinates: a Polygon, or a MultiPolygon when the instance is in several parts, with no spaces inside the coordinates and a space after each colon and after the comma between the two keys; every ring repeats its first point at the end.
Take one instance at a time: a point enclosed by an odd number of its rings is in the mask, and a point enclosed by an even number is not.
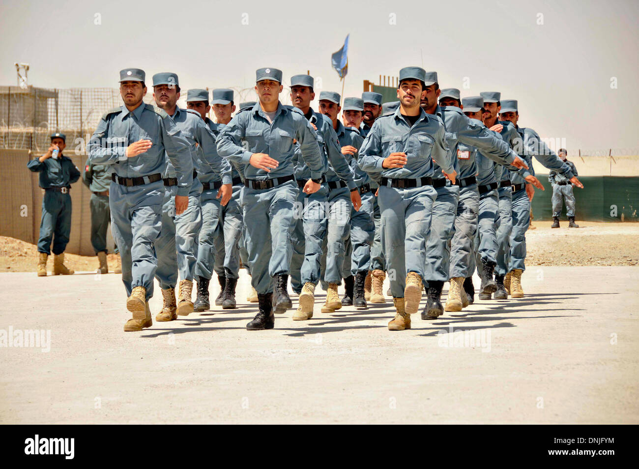
{"type": "MultiPolygon", "coordinates": [[[[535,220],[550,220],[553,190],[546,175],[539,175],[545,191],[535,189],[532,211],[535,220]]],[[[573,187],[575,218],[587,221],[639,221],[639,177],[584,176],[583,189],[573,187]]],[[[566,205],[561,219],[566,219],[566,205]]]]}

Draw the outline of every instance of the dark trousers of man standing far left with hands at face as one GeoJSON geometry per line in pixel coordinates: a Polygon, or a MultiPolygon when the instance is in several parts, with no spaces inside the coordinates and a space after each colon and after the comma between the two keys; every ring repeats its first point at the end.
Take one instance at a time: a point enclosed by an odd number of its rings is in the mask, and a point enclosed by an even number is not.
{"type": "Polygon", "coordinates": [[[61,254],[66,249],[71,233],[71,195],[56,191],[44,191],[38,252],[61,254]]]}

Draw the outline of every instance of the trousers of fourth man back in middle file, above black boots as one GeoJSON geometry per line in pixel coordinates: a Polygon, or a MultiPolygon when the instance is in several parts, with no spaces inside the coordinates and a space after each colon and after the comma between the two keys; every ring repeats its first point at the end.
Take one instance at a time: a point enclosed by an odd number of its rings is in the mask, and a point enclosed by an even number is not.
{"type": "Polygon", "coordinates": [[[346,278],[358,272],[371,269],[371,245],[375,234],[373,222],[373,201],[375,196],[367,192],[361,196],[362,207],[355,211],[351,208],[351,235],[346,238],[342,277],[346,278]]]}

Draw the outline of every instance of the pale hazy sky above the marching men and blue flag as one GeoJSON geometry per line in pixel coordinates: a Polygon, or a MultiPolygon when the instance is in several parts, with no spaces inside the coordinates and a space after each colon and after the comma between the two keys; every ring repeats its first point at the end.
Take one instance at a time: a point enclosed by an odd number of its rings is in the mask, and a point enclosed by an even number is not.
{"type": "Polygon", "coordinates": [[[518,99],[520,125],[569,150],[639,148],[637,0],[1,1],[3,85],[15,62],[45,88],[116,87],[127,67],[149,86],[171,71],[184,90],[247,88],[275,67],[340,92],[330,54],[350,33],[345,96],[419,65],[462,96],[518,99]]]}

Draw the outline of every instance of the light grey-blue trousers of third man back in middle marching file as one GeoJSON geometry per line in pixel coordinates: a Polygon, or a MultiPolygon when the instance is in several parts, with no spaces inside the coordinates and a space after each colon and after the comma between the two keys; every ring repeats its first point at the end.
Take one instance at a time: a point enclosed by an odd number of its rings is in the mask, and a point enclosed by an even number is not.
{"type": "Polygon", "coordinates": [[[327,235],[322,243],[321,271],[323,274],[322,287],[325,283],[342,283],[342,265],[346,239],[351,232],[351,202],[350,189],[328,189],[327,235]]]}

